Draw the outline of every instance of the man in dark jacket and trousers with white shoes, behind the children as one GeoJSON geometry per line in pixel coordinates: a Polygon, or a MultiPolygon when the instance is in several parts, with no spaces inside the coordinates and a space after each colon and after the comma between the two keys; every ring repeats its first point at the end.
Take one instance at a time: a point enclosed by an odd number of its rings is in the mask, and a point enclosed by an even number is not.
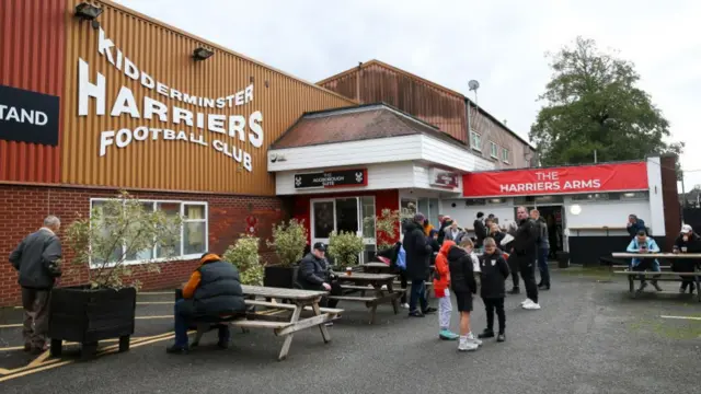
{"type": "Polygon", "coordinates": [[[509,259],[515,258],[514,264],[518,266],[518,269],[524,279],[526,286],[526,296],[528,297],[521,306],[527,310],[539,310],[538,303],[538,286],[536,286],[536,256],[538,253],[538,224],[535,220],[528,217],[528,209],[526,207],[518,207],[516,209],[516,217],[518,220],[518,230],[514,236],[512,243],[512,254],[509,259]]]}

